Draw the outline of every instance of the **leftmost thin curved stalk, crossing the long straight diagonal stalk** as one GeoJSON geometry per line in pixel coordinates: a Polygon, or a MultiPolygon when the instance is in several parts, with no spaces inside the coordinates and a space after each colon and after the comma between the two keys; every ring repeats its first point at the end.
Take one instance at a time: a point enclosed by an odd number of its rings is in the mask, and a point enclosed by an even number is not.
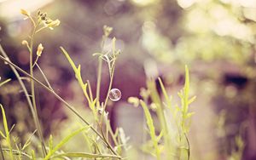
{"type": "MultiPolygon", "coordinates": [[[[0,44],[0,52],[3,54],[3,56],[1,56],[1,58],[3,58],[4,60],[6,60],[6,59],[9,60],[9,57],[8,57],[8,55],[4,52],[3,47],[2,47],[1,44],[0,44]],[[5,58],[4,58],[4,57],[5,57],[5,58]]],[[[21,87],[21,89],[24,91],[24,94],[25,94],[25,96],[26,96],[26,100],[27,100],[28,106],[30,107],[30,110],[32,111],[33,121],[34,121],[34,123],[35,123],[35,125],[36,125],[36,128],[38,129],[38,137],[39,137],[39,139],[40,139],[40,141],[41,141],[42,150],[43,150],[43,151],[46,151],[45,145],[44,145],[44,139],[43,139],[42,130],[41,130],[41,127],[40,127],[40,124],[39,124],[39,121],[38,121],[38,116],[37,116],[36,112],[34,111],[34,108],[33,108],[33,106],[32,106],[32,101],[31,101],[31,99],[30,99],[30,97],[29,97],[29,94],[28,94],[28,92],[27,92],[27,90],[26,90],[25,84],[22,82],[22,80],[21,80],[21,78],[20,78],[20,74],[19,74],[18,71],[15,69],[15,67],[14,67],[14,66],[11,66],[11,65],[9,65],[9,66],[10,66],[10,68],[12,69],[12,71],[14,71],[15,76],[17,77],[17,79],[18,79],[18,81],[19,81],[19,83],[20,83],[20,87],[21,87]]]]}

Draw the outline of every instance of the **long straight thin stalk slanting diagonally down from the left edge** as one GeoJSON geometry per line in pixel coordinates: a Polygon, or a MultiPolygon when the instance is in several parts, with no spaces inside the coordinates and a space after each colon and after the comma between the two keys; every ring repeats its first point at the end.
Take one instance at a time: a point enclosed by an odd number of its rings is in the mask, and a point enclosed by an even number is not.
{"type": "MultiPolygon", "coordinates": [[[[69,105],[66,100],[63,100],[60,95],[58,95],[58,94],[55,93],[54,90],[49,89],[49,87],[47,87],[46,85],[44,85],[44,83],[41,83],[37,78],[32,77],[32,75],[30,75],[30,74],[27,73],[26,71],[22,70],[19,66],[16,66],[16,65],[15,65],[14,63],[12,63],[9,59],[5,59],[5,58],[4,58],[3,56],[1,56],[1,55],[0,55],[0,59],[3,60],[3,61],[5,61],[6,63],[8,63],[10,66],[15,67],[15,69],[17,69],[18,71],[22,72],[22,73],[25,74],[27,77],[30,77],[33,81],[37,82],[37,83],[40,84],[44,89],[46,89],[47,91],[49,91],[49,93],[53,94],[56,99],[60,100],[65,106],[67,106],[67,108],[68,108],[70,111],[72,111],[77,117],[79,117],[79,119],[80,119],[83,123],[85,123],[86,125],[90,126],[90,129],[91,129],[93,132],[95,132],[95,133],[100,137],[100,139],[103,140],[104,144],[108,147],[108,149],[109,149],[110,151],[112,151],[114,155],[117,155],[117,156],[118,156],[118,153],[113,150],[113,147],[109,144],[108,140],[105,140],[104,137],[102,136],[102,134],[100,134],[96,129],[94,129],[94,127],[92,127],[92,126],[90,125],[90,123],[88,123],[88,122],[84,119],[84,117],[82,117],[82,116],[79,114],[79,112],[74,109],[73,106],[69,105]]],[[[121,158],[121,157],[120,157],[120,158],[121,158]]]]}

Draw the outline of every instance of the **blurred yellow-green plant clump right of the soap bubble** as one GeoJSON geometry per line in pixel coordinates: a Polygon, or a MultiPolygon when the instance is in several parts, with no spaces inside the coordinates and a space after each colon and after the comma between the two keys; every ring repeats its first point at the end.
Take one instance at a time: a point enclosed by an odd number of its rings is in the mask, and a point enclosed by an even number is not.
{"type": "Polygon", "coordinates": [[[193,112],[189,112],[189,105],[195,100],[195,97],[189,98],[189,69],[185,66],[184,87],[178,93],[181,106],[172,106],[172,97],[167,94],[162,80],[160,78],[158,80],[164,100],[161,100],[152,80],[148,80],[148,89],[144,89],[141,93],[143,100],[138,100],[136,97],[128,99],[134,106],[138,106],[138,101],[143,106],[150,135],[150,140],[143,145],[143,151],[152,154],[152,149],[154,149],[152,155],[156,156],[157,159],[169,159],[171,157],[173,159],[189,159],[190,146],[187,134],[189,133],[190,124],[188,122],[193,115],[193,112]],[[152,102],[147,105],[148,98],[151,98],[152,102]],[[152,110],[156,112],[157,119],[160,122],[160,134],[158,136],[155,134],[154,121],[148,106],[151,106],[152,110]],[[171,113],[170,116],[166,114],[168,112],[171,113]],[[172,125],[168,125],[170,123],[174,123],[176,129],[171,128],[172,125]]]}

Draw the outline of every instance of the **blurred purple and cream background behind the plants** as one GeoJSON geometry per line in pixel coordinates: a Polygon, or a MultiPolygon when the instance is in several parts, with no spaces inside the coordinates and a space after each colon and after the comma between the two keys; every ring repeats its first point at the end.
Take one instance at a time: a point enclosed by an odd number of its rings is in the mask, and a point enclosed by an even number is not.
{"type": "MultiPolygon", "coordinates": [[[[113,81],[122,98],[108,107],[113,128],[124,128],[130,143],[139,146],[143,111],[130,106],[127,98],[140,96],[148,76],[160,76],[173,95],[172,103],[177,103],[188,65],[191,92],[197,96],[190,108],[195,111],[189,134],[192,159],[228,159],[237,150],[237,136],[246,144],[243,159],[256,159],[255,0],[0,0],[0,43],[10,60],[28,71],[29,53],[21,41],[30,34],[31,24],[23,20],[20,9],[32,13],[40,9],[61,20],[53,31],[37,35],[36,44],[44,45],[38,64],[56,93],[79,111],[88,110],[60,46],[81,64],[84,80],[95,90],[97,58],[92,54],[101,50],[102,26],[112,26],[110,37],[117,38],[122,51],[113,81]]],[[[16,124],[15,134],[25,136],[33,130],[30,111],[14,73],[3,61],[0,77],[13,79],[0,88],[0,102],[10,125],[16,124]]],[[[43,80],[38,70],[36,77],[43,80]]],[[[108,78],[104,66],[102,100],[108,78]]],[[[36,88],[44,136],[62,134],[58,129],[73,123],[70,113],[55,97],[36,88]]]]}

